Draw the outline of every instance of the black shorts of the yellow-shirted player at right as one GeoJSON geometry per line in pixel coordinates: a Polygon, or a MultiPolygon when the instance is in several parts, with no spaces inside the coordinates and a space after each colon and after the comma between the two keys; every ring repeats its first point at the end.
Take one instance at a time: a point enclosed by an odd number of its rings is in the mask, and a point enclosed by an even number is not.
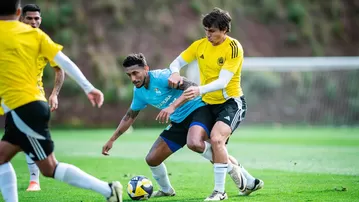
{"type": "Polygon", "coordinates": [[[215,122],[222,121],[232,129],[232,133],[246,116],[247,104],[244,96],[230,98],[222,104],[207,105],[215,119],[215,122]]]}

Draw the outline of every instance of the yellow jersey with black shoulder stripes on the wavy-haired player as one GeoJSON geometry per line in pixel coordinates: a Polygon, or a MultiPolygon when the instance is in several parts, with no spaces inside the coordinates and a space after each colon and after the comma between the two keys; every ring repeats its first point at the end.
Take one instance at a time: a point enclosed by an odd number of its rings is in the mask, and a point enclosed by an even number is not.
{"type": "Polygon", "coordinates": [[[187,63],[197,59],[201,85],[217,80],[222,69],[233,73],[233,77],[225,89],[209,92],[202,96],[205,103],[222,104],[229,98],[243,95],[240,85],[243,48],[236,39],[227,36],[223,43],[213,46],[207,38],[203,38],[192,43],[181,53],[181,57],[187,63]]]}

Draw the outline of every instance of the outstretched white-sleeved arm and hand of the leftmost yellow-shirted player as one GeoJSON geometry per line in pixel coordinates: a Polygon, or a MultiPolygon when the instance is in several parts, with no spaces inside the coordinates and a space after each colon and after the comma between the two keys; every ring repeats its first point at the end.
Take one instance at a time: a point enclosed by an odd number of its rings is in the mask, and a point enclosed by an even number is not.
{"type": "Polygon", "coordinates": [[[55,63],[61,67],[65,72],[81,86],[81,88],[87,94],[88,99],[92,103],[92,106],[101,107],[103,104],[103,93],[96,89],[83,75],[77,65],[70,60],[64,53],[59,51],[55,58],[55,63]]]}

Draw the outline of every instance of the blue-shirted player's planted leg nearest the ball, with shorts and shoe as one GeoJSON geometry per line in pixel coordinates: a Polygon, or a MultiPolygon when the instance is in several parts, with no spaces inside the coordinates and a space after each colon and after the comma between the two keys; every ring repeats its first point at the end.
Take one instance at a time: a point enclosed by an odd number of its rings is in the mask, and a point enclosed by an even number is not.
{"type": "Polygon", "coordinates": [[[160,190],[153,192],[152,197],[174,196],[176,194],[163,161],[185,144],[186,130],[181,123],[171,123],[153,144],[146,156],[146,162],[150,166],[152,176],[160,186],[160,190]]]}

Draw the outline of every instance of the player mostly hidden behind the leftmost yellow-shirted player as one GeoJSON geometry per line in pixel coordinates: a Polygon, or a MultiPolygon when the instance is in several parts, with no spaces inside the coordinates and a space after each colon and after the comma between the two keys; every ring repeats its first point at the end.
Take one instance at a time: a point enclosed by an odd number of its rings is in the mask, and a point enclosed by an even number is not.
{"type": "MultiPolygon", "coordinates": [[[[33,28],[39,28],[41,25],[42,17],[41,17],[41,9],[36,4],[27,4],[22,8],[22,16],[20,20],[30,25],[33,28]]],[[[44,68],[47,63],[50,63],[51,67],[55,70],[55,82],[52,93],[49,97],[49,106],[51,111],[55,111],[58,107],[58,98],[57,95],[60,92],[62,84],[64,83],[65,72],[61,68],[59,68],[54,61],[49,61],[47,58],[40,56],[37,61],[38,65],[38,74],[37,74],[37,85],[40,88],[41,92],[45,95],[42,76],[44,74],[44,68]]],[[[6,126],[5,126],[6,127],[6,126]]],[[[35,162],[29,157],[26,156],[27,165],[30,172],[30,184],[26,191],[40,191],[40,171],[35,162]]]]}

